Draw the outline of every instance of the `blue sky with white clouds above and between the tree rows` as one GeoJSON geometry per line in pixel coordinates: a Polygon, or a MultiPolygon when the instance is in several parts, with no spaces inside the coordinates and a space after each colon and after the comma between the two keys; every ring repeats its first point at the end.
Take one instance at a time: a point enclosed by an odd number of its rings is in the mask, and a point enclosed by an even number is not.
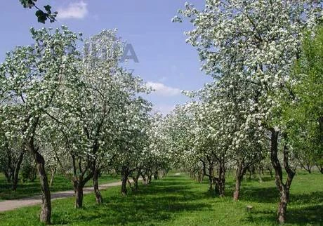
{"type": "MultiPolygon", "coordinates": [[[[4,1],[0,9],[0,62],[15,46],[32,44],[30,27],[67,25],[85,37],[103,29],[118,29],[118,35],[130,43],[139,62],[128,62],[157,91],[148,100],[154,109],[169,112],[176,104],[187,100],[180,90],[201,88],[211,78],[200,71],[201,63],[195,48],[185,43],[189,22],[172,23],[171,18],[185,0],[56,0],[37,1],[39,6],[51,4],[58,11],[58,22],[46,25],[37,22],[34,9],[22,8],[18,0],[4,1]]],[[[202,8],[204,1],[190,3],[202,8]]]]}

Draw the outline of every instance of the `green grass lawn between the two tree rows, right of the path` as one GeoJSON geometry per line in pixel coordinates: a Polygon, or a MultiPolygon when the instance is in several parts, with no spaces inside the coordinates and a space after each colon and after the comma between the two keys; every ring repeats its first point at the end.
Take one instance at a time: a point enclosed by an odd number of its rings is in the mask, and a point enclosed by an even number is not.
{"type": "MultiPolygon", "coordinates": [[[[323,175],[300,172],[291,189],[286,225],[323,225],[323,175]]],[[[242,183],[241,200],[232,201],[234,180],[228,178],[227,197],[206,192],[185,174],[169,175],[137,194],[121,197],[119,187],[103,191],[105,203],[97,206],[93,194],[84,197],[84,208],[74,209],[74,199],[53,201],[54,225],[276,225],[278,192],[270,177],[242,183]],[[246,206],[253,206],[246,212],[246,206]]],[[[39,206],[0,213],[0,225],[41,225],[39,206]]]]}

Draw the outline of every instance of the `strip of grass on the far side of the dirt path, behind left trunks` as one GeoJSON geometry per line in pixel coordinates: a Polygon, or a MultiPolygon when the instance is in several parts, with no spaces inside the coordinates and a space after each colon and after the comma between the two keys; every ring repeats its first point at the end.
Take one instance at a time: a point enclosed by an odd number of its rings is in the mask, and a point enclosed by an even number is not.
{"type": "MultiPolygon", "coordinates": [[[[119,181],[120,177],[115,175],[102,175],[100,178],[100,184],[119,181]]],[[[92,180],[88,181],[86,186],[92,186],[92,180]]],[[[51,192],[60,192],[66,190],[73,190],[72,183],[62,175],[55,175],[51,192]]],[[[11,185],[6,181],[6,178],[0,173],[0,201],[8,199],[21,199],[25,197],[31,197],[33,195],[41,194],[39,179],[34,182],[19,182],[17,191],[11,190],[11,185]]],[[[1,225],[1,222],[0,222],[1,225]]]]}

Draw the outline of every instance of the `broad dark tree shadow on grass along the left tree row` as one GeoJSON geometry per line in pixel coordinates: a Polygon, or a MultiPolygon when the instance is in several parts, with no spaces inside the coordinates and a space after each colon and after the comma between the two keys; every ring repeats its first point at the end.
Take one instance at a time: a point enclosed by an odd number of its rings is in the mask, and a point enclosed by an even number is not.
{"type": "Polygon", "coordinates": [[[204,196],[203,192],[190,190],[187,182],[171,179],[154,181],[149,186],[142,185],[138,192],[129,192],[127,197],[114,194],[102,206],[87,205],[74,219],[63,219],[59,213],[53,213],[53,221],[56,224],[95,220],[98,225],[143,225],[152,221],[171,220],[174,213],[211,208],[211,204],[199,201],[204,196]]]}

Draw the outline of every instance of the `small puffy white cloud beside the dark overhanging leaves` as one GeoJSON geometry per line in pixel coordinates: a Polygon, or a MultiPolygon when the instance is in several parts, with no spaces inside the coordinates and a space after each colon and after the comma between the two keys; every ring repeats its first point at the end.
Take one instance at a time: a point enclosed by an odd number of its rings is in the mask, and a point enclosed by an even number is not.
{"type": "Polygon", "coordinates": [[[88,4],[84,1],[74,2],[66,8],[58,8],[58,19],[82,19],[88,14],[88,4]]]}

